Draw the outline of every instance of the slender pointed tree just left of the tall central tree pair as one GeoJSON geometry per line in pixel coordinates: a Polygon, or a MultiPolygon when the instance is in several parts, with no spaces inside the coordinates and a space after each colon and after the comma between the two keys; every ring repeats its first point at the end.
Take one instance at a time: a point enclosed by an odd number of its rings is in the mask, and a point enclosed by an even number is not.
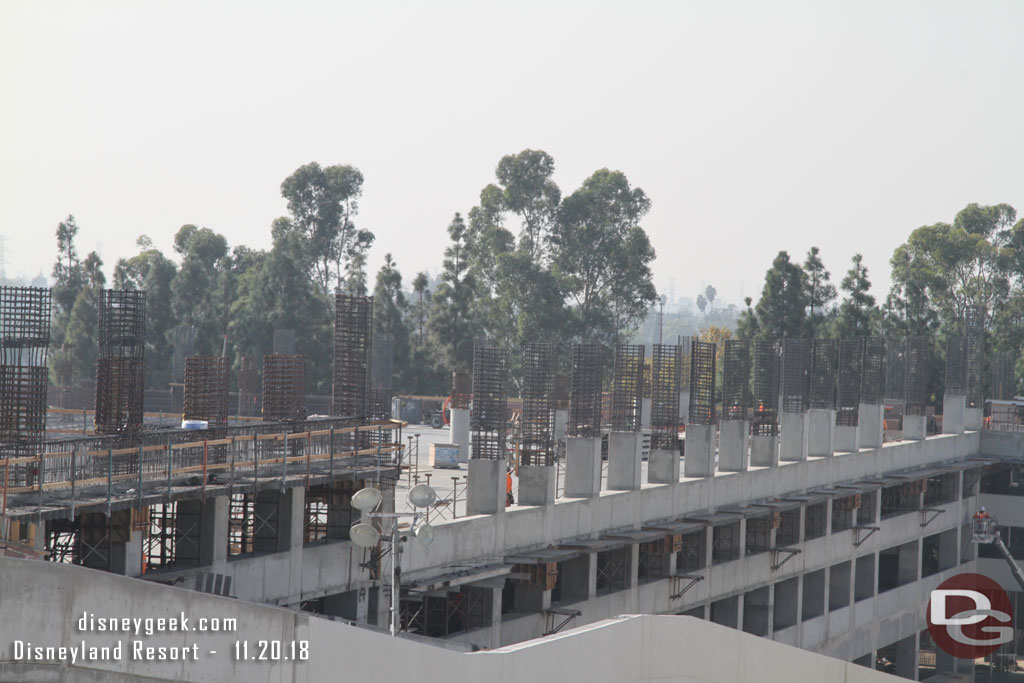
{"type": "Polygon", "coordinates": [[[444,349],[444,365],[468,370],[473,359],[473,328],[470,303],[475,282],[466,262],[466,222],[456,214],[447,227],[452,244],[444,250],[441,282],[434,292],[430,329],[444,349]]]}

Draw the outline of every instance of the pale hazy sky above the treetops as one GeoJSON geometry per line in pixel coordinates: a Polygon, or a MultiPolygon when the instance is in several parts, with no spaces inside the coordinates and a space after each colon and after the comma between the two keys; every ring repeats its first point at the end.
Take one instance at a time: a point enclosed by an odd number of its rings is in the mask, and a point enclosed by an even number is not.
{"type": "MultiPolygon", "coordinates": [[[[281,181],[366,176],[358,223],[407,283],[498,160],[541,148],[567,195],[651,198],[655,284],[760,293],[781,249],[884,297],[910,230],[1024,212],[1022,2],[0,4],[6,271],[49,273],[69,213],[106,271],[184,223],[266,248],[281,181]]],[[[372,286],[372,281],[371,281],[372,286]]]]}

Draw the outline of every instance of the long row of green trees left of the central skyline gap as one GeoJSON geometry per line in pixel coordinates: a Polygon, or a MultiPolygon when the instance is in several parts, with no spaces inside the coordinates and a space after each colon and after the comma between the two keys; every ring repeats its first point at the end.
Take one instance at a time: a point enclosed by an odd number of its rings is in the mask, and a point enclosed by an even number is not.
{"type": "Polygon", "coordinates": [[[450,221],[439,279],[418,272],[408,287],[386,254],[371,289],[375,236],[358,224],[365,179],[348,165],[314,162],[284,180],[288,215],[272,221],[268,250],[232,247],[187,224],[174,236],[173,257],[139,237],[138,254],[120,259],[110,283],[95,252],[79,255],[79,227],[68,216],[52,270],[51,380],[93,377],[105,287],[146,292],[148,388],[166,388],[174,331],[186,325],[197,354],[226,349],[236,371],[242,356],[272,351],[274,330],[295,330],[307,391],[330,393],[336,292],[374,295],[374,333],[390,339],[396,392],[446,394],[451,372],[471,367],[474,343],[518,358],[529,341],[629,341],[657,300],[654,250],[641,225],[650,200],[608,169],[563,197],[554,170],[542,151],[503,157],[478,204],[450,221]]]}

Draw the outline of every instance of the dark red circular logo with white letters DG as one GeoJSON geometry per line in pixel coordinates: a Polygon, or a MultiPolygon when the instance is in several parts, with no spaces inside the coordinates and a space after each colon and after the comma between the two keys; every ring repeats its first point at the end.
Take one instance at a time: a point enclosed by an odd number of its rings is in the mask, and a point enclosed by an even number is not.
{"type": "Polygon", "coordinates": [[[928,631],[936,646],[961,659],[983,657],[1014,639],[1010,596],[980,573],[958,573],[932,591],[928,631]]]}

